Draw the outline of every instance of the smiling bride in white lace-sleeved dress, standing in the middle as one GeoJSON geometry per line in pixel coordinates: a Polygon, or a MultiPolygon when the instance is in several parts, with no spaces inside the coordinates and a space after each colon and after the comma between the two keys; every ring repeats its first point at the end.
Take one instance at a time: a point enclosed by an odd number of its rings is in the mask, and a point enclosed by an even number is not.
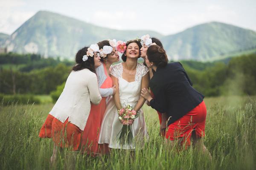
{"type": "MultiPolygon", "coordinates": [[[[124,43],[123,43],[124,44],[124,43]]],[[[125,50],[125,45],[121,47],[125,50]]],[[[119,144],[116,140],[122,124],[119,122],[118,111],[122,105],[134,105],[134,110],[140,112],[140,116],[131,125],[131,131],[135,139],[143,141],[148,138],[145,119],[143,116],[143,106],[145,99],[140,96],[143,88],[148,88],[149,74],[148,68],[137,62],[140,57],[141,44],[139,40],[130,40],[126,43],[126,50],[122,54],[124,62],[113,65],[111,78],[113,85],[116,85],[116,94],[109,101],[99,134],[99,144],[108,144],[114,149],[135,149],[135,143],[119,144]]],[[[117,46],[117,49],[119,47],[117,46]]]]}

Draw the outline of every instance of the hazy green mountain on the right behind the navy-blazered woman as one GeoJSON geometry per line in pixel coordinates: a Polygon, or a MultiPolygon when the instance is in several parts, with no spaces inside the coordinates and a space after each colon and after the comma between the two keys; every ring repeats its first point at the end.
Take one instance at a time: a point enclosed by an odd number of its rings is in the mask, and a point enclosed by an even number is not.
{"type": "Polygon", "coordinates": [[[207,61],[212,57],[220,59],[234,51],[256,48],[256,32],[211,22],[163,37],[162,42],[172,59],[207,61]]]}

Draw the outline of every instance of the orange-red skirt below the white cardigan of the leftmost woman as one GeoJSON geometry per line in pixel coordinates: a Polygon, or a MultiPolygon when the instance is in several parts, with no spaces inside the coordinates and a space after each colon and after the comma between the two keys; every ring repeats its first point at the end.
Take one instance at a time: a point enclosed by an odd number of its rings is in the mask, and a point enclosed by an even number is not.
{"type": "Polygon", "coordinates": [[[48,114],[44,125],[41,127],[40,138],[52,138],[53,142],[59,147],[72,147],[78,150],[80,144],[82,130],[73,123],[68,122],[68,118],[64,123],[48,114]]]}

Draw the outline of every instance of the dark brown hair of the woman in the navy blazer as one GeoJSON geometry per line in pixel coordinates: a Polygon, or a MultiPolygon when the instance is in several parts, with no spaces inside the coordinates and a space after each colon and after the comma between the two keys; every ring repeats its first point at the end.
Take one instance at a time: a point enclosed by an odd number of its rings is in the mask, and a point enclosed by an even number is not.
{"type": "Polygon", "coordinates": [[[158,45],[148,47],[147,56],[148,61],[153,62],[157,67],[164,67],[168,63],[166,51],[158,45]]]}

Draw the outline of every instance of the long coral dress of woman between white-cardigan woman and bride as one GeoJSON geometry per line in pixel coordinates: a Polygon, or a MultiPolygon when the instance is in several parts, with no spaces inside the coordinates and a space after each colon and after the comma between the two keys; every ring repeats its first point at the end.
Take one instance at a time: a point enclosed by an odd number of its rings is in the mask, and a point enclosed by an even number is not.
{"type": "MultiPolygon", "coordinates": [[[[100,88],[111,88],[113,86],[113,81],[108,75],[105,64],[102,63],[102,65],[104,66],[104,72],[107,79],[105,79],[100,88]]],[[[107,97],[102,97],[102,101],[99,105],[91,105],[90,114],[81,136],[82,152],[87,152],[87,154],[91,154],[92,156],[97,153],[108,152],[108,147],[105,147],[106,145],[98,144],[100,127],[106,110],[106,99],[107,97]]]]}

